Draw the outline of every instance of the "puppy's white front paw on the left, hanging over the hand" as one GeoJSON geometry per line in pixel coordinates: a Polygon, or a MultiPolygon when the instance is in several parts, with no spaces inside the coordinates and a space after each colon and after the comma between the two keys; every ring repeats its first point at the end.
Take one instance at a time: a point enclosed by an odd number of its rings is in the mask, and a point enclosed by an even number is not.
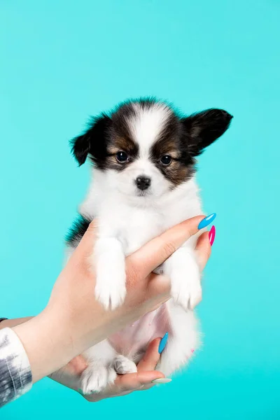
{"type": "Polygon", "coordinates": [[[118,267],[110,267],[110,262],[107,262],[108,267],[99,269],[97,273],[97,283],[95,286],[95,297],[103,304],[106,310],[116,309],[125,300],[125,270],[118,269],[118,267]]]}

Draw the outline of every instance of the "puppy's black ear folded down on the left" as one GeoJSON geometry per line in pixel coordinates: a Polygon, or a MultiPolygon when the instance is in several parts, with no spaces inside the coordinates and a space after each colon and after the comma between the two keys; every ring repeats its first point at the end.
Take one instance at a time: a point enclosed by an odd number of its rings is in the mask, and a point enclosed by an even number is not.
{"type": "Polygon", "coordinates": [[[90,155],[92,160],[98,160],[106,155],[107,131],[111,125],[111,118],[102,114],[90,120],[87,130],[70,141],[71,152],[78,165],[83,165],[90,155]]]}

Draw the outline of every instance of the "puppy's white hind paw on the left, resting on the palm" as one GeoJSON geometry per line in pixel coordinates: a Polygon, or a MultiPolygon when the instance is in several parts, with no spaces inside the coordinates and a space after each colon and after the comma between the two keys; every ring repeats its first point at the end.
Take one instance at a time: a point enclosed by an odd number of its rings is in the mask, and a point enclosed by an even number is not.
{"type": "Polygon", "coordinates": [[[116,379],[113,367],[106,367],[99,363],[92,363],[82,374],[80,388],[84,395],[99,393],[116,379]]]}

